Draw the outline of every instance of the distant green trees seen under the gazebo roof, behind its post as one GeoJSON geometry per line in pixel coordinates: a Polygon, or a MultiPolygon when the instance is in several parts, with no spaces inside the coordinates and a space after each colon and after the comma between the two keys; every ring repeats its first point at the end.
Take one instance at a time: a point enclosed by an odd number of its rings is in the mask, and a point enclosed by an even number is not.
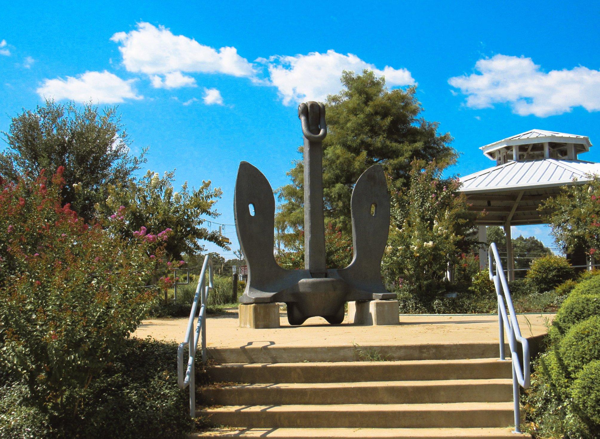
{"type": "MultiPolygon", "coordinates": [[[[506,233],[502,227],[491,225],[487,228],[487,245],[495,242],[500,253],[502,266],[506,268],[506,233]]],[[[533,260],[553,254],[551,249],[534,236],[523,235],[511,239],[515,269],[529,269],[533,260]]]]}

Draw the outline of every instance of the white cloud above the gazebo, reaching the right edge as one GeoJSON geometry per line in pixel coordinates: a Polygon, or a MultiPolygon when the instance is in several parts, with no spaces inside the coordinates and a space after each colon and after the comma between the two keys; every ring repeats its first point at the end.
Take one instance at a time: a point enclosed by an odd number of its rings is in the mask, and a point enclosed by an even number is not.
{"type": "Polygon", "coordinates": [[[479,73],[456,76],[448,83],[467,95],[468,107],[509,104],[521,116],[546,117],[583,107],[600,110],[600,71],[587,67],[545,73],[531,58],[495,55],[475,63],[479,73]]]}

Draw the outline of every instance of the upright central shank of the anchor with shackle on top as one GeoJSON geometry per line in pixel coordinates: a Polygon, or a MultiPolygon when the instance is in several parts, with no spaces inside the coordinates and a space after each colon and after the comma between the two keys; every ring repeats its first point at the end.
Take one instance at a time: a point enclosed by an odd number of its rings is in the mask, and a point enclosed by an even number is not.
{"type": "Polygon", "coordinates": [[[325,277],[322,145],[327,132],[325,107],[310,101],[301,104],[298,112],[304,133],[304,267],[313,277],[325,277]]]}

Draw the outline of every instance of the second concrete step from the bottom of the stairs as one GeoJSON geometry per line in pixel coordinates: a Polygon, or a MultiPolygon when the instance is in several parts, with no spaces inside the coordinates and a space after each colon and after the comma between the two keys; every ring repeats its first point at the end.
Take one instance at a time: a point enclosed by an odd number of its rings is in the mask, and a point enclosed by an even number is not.
{"type": "Polygon", "coordinates": [[[512,402],[227,405],[196,414],[212,425],[244,428],[502,428],[514,423],[512,402]]]}

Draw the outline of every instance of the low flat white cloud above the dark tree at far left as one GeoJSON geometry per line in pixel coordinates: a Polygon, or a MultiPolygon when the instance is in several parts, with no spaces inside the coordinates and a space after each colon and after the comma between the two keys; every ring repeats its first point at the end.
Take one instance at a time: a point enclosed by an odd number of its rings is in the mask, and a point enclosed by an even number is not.
{"type": "Polygon", "coordinates": [[[134,79],[123,80],[106,70],[88,71],[67,79],[46,79],[37,89],[41,97],[56,100],[93,101],[99,104],[116,104],[125,99],[142,99],[131,88],[134,79]]]}

